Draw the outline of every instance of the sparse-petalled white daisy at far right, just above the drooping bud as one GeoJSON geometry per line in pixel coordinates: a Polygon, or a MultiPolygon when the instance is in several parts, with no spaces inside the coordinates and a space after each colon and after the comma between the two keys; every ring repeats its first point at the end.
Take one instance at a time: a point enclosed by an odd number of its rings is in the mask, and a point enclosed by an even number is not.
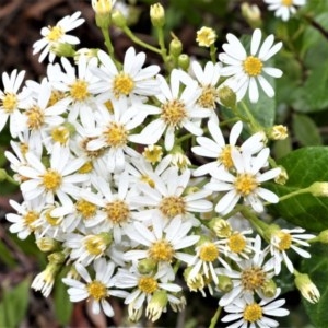
{"type": "Polygon", "coordinates": [[[284,262],[291,273],[294,272],[293,262],[288,256],[288,250],[293,249],[300,256],[309,258],[311,254],[300,246],[308,247],[306,242],[315,237],[313,234],[304,234],[305,230],[302,227],[294,229],[278,229],[271,233],[270,245],[268,246],[271,256],[274,260],[274,271],[279,274],[281,271],[281,262],[284,262]]]}

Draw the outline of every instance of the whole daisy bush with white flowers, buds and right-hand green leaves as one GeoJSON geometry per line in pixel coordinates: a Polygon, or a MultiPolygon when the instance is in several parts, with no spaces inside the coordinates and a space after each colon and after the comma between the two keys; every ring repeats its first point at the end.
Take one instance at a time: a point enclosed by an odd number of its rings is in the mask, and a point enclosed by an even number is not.
{"type": "Polygon", "coordinates": [[[61,284],[107,317],[117,297],[130,323],[198,293],[216,304],[209,327],[234,328],[285,325],[294,291],[328,325],[328,4],[261,2],[242,4],[244,28],[201,24],[191,56],[161,3],[148,43],[92,0],[103,47],[83,47],[72,12],[33,45],[45,77],[2,73],[0,177],[22,195],[9,231],[47,259],[34,290],[61,284]],[[130,38],[122,56],[112,33],[130,38]]]}

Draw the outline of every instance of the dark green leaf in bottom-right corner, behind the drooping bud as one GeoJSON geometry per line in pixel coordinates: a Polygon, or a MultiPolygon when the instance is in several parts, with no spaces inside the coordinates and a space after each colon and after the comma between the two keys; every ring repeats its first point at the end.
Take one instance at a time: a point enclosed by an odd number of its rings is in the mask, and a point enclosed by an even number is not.
{"type": "Polygon", "coordinates": [[[321,296],[317,304],[303,300],[304,307],[312,323],[317,328],[328,327],[328,248],[327,245],[316,244],[309,248],[312,257],[302,263],[302,272],[307,273],[319,290],[321,296]]]}

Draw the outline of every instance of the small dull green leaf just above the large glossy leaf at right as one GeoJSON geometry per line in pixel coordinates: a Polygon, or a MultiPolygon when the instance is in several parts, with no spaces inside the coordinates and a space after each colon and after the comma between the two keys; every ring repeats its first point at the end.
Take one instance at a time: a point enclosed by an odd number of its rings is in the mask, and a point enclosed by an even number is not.
{"type": "Polygon", "coordinates": [[[316,124],[306,115],[293,115],[293,130],[302,145],[321,145],[323,140],[316,124]]]}

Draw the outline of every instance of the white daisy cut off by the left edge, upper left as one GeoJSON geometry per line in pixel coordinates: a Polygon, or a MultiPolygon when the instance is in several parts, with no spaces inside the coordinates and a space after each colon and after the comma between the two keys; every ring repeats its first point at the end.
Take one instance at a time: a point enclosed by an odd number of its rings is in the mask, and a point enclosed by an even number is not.
{"type": "Polygon", "coordinates": [[[20,112],[24,93],[19,92],[24,77],[25,71],[17,73],[17,70],[13,70],[10,75],[7,72],[2,73],[4,89],[3,91],[0,89],[0,132],[10,119],[9,131],[13,138],[24,129],[25,118],[20,112]]]}

